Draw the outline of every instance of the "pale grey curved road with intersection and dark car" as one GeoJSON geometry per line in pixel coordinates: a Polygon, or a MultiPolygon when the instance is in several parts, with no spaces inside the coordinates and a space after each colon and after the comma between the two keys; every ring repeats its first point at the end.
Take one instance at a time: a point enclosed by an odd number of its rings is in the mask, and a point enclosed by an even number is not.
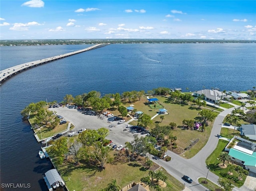
{"type": "MultiPolygon", "coordinates": [[[[207,190],[205,187],[197,183],[197,179],[199,177],[206,177],[208,169],[206,168],[206,158],[215,150],[217,144],[218,144],[218,137],[217,135],[220,134],[220,130],[222,127],[222,122],[227,114],[229,114],[234,108],[238,108],[239,106],[235,106],[230,109],[226,109],[222,111],[218,116],[216,117],[213,127],[212,127],[212,132],[210,134],[210,137],[208,139],[208,142],[191,159],[184,159],[181,156],[171,152],[167,151],[167,155],[172,157],[172,160],[169,162],[163,161],[161,159],[154,159],[153,157],[151,158],[155,163],[158,163],[160,166],[162,166],[166,171],[168,171],[172,176],[174,176],[176,179],[178,179],[180,182],[183,182],[186,187],[188,187],[192,191],[205,191],[207,190]],[[182,180],[183,175],[188,175],[191,177],[193,181],[192,184],[189,184],[182,180]]],[[[218,176],[215,175],[214,173],[210,172],[208,173],[207,179],[210,181],[217,183],[218,176]]],[[[246,187],[243,186],[240,189],[235,187],[233,189],[234,191],[244,191],[246,190],[246,187]]],[[[247,189],[248,190],[248,189],[247,189]]]]}

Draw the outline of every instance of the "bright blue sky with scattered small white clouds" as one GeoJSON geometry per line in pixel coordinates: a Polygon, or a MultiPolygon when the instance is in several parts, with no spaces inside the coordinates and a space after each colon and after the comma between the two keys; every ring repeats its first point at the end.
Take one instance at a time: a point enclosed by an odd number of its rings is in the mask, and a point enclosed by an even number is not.
{"type": "Polygon", "coordinates": [[[120,38],[256,40],[256,1],[0,1],[0,39],[120,38]]]}

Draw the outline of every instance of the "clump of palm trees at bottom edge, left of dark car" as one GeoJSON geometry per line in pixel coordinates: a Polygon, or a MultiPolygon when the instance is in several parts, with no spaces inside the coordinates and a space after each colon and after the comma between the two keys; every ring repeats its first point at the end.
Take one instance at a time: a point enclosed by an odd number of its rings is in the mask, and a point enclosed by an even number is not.
{"type": "Polygon", "coordinates": [[[168,177],[163,173],[163,171],[149,171],[148,176],[142,177],[140,181],[142,181],[145,185],[149,187],[153,187],[156,191],[161,191],[161,187],[159,185],[159,180],[166,182],[168,177]],[[154,181],[155,180],[155,181],[154,181]]]}

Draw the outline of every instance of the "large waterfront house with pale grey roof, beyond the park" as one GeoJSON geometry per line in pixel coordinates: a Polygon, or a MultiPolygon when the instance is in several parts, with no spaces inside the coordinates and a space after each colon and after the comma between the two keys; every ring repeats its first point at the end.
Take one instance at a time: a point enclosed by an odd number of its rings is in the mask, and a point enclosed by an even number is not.
{"type": "Polygon", "coordinates": [[[193,96],[204,96],[204,100],[216,103],[218,100],[221,100],[223,96],[225,96],[225,93],[222,93],[218,90],[210,90],[210,89],[204,89],[193,93],[193,96]]]}

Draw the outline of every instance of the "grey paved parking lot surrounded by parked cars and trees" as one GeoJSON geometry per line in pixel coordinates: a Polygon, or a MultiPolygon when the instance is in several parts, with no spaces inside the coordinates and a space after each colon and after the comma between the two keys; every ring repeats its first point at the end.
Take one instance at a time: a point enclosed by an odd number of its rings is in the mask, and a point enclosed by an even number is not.
{"type": "MultiPolygon", "coordinates": [[[[78,131],[82,128],[97,130],[99,128],[105,127],[109,130],[109,135],[106,138],[112,140],[114,144],[124,146],[126,142],[131,142],[134,140],[134,134],[129,132],[129,128],[126,128],[128,123],[124,122],[122,124],[117,124],[117,121],[113,121],[114,117],[106,117],[104,119],[100,119],[97,116],[82,114],[82,112],[73,108],[68,108],[66,106],[49,108],[49,110],[56,111],[58,115],[63,116],[64,119],[74,124],[76,128],[73,131],[78,131]],[[115,126],[109,128],[110,125],[115,126]],[[127,129],[127,131],[124,131],[124,129],[127,129]]],[[[145,135],[139,134],[139,136],[145,135]]]]}

